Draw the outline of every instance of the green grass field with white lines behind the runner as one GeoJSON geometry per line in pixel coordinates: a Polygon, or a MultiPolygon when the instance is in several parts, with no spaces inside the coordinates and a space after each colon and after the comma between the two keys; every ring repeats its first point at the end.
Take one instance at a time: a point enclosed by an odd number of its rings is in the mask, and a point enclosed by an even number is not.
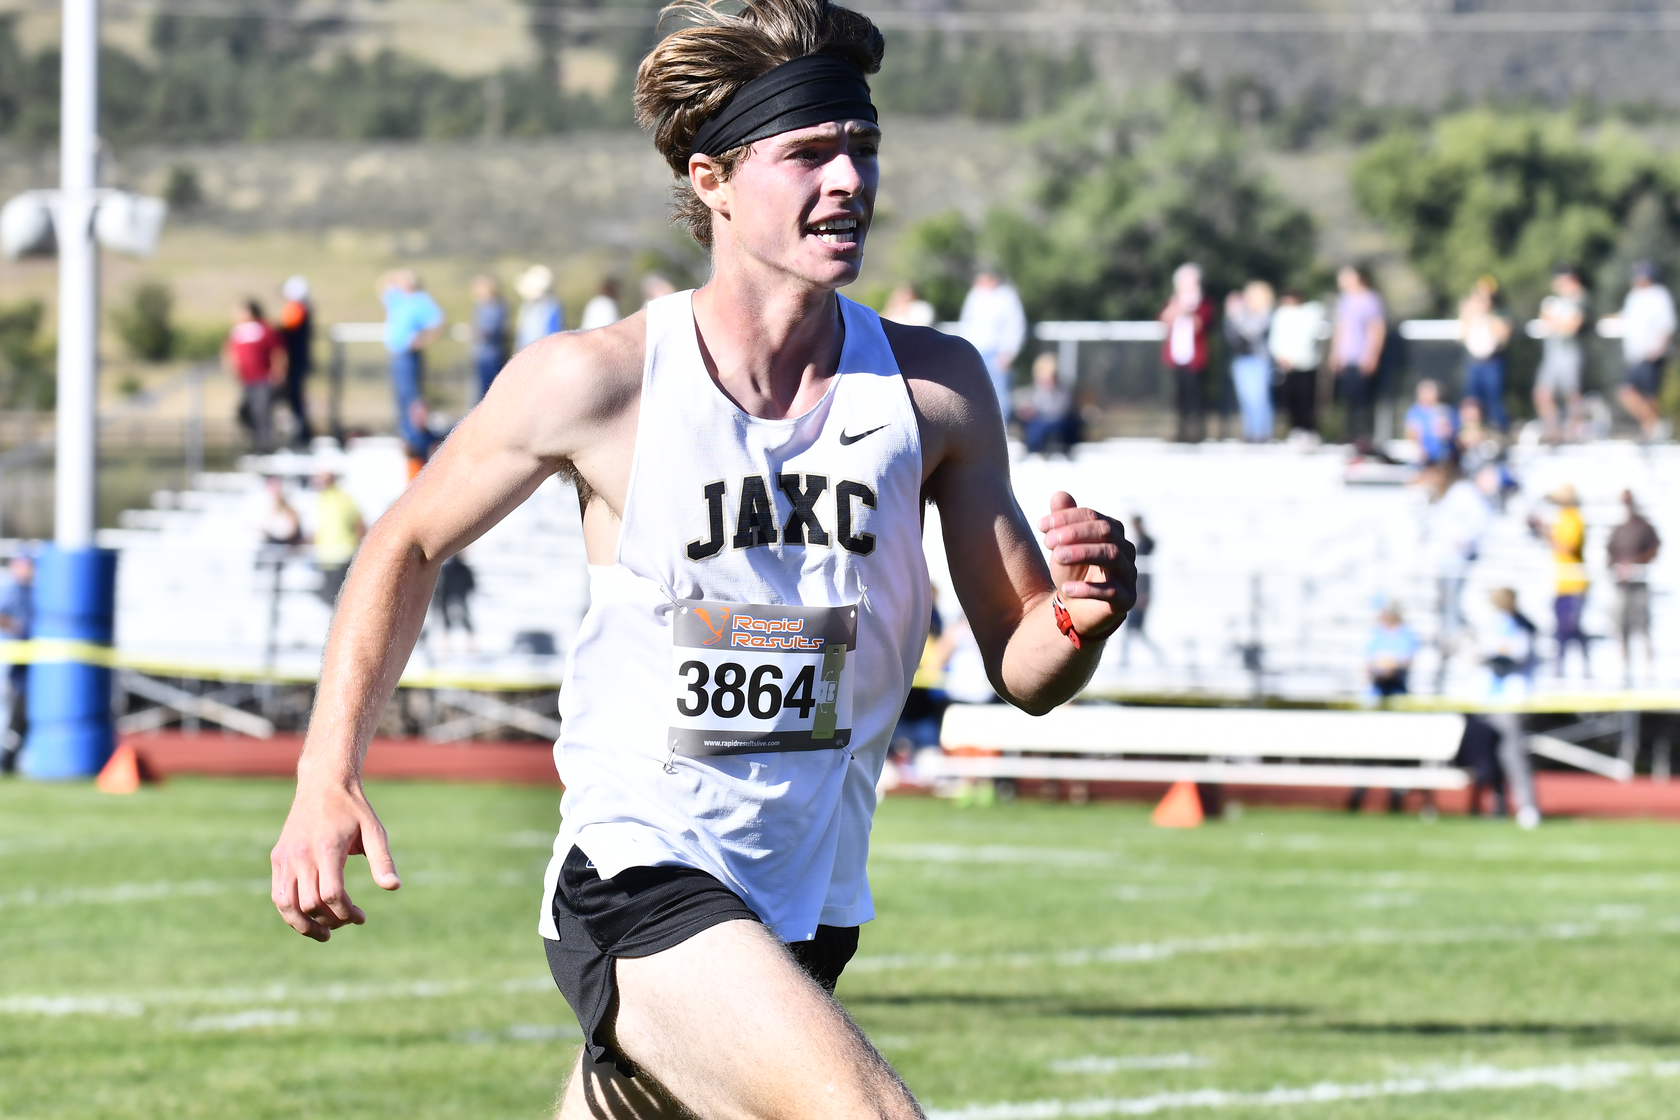
{"type": "MultiPolygon", "coordinates": [[[[405,887],[356,860],[329,945],[267,902],[289,793],[0,782],[0,1117],[546,1115],[554,793],[376,786],[405,887]]],[[[1673,1117],[1677,836],[894,799],[840,996],[948,1120],[1673,1117]]]]}

